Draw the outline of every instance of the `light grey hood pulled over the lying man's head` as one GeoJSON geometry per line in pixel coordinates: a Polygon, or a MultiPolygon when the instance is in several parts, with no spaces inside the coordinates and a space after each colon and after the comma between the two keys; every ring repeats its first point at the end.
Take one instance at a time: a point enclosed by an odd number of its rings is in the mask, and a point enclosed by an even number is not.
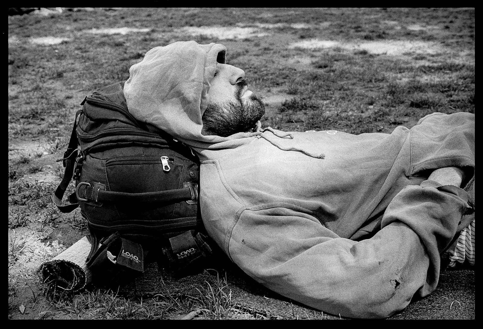
{"type": "Polygon", "coordinates": [[[248,133],[229,137],[202,135],[201,117],[210,102],[208,90],[216,62],[225,64],[226,48],[219,43],[176,42],[149,50],[129,69],[124,96],[129,112],[171,136],[200,148],[210,147],[248,133]]]}

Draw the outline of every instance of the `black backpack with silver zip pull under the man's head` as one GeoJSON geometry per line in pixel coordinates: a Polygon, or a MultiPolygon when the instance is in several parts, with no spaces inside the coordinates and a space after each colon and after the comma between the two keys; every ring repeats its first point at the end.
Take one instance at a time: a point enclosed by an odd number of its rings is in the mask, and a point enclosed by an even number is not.
{"type": "Polygon", "coordinates": [[[123,83],[95,91],[81,105],[68,149],[57,160],[66,169],[53,200],[63,213],[80,206],[94,280],[132,279],[144,271],[148,254],[177,275],[199,269],[211,248],[199,215],[198,157],[166,132],[138,122],[123,83]],[[71,178],[75,193],[62,205],[71,178]]]}

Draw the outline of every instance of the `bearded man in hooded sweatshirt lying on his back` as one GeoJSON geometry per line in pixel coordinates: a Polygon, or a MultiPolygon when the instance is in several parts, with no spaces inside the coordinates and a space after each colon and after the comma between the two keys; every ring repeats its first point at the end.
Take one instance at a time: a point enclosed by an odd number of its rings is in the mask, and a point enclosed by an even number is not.
{"type": "Polygon", "coordinates": [[[431,293],[474,219],[474,115],[391,134],[261,129],[263,102],[225,53],[156,47],[124,86],[138,120],[198,154],[201,215],[220,248],[260,284],[335,315],[387,317],[431,293]]]}

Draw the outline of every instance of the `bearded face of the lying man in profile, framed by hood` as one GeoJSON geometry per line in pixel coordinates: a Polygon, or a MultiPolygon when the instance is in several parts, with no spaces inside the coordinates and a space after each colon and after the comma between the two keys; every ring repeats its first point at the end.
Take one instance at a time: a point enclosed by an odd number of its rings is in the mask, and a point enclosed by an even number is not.
{"type": "Polygon", "coordinates": [[[265,105],[250,90],[245,72],[227,64],[216,63],[216,72],[208,96],[210,103],[203,114],[203,135],[227,137],[247,132],[265,114],[265,105]]]}

